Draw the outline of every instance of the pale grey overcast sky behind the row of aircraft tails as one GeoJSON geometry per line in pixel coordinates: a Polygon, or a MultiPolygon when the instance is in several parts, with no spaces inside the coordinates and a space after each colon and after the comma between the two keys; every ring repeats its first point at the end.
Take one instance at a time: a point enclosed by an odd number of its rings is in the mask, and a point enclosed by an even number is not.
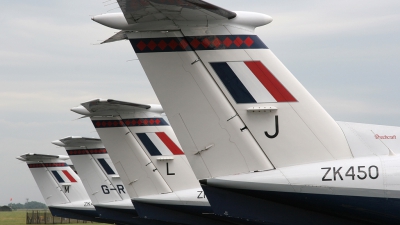
{"type": "MultiPolygon", "coordinates": [[[[69,111],[94,98],[158,100],[127,41],[90,20],[106,0],[3,0],[0,8],[0,205],[44,202],[27,153],[66,154],[50,142],[98,137],[69,111]]],[[[335,120],[400,126],[400,1],[210,0],[268,14],[256,33],[335,120]]],[[[106,4],[110,4],[105,6],[106,4]]]]}

